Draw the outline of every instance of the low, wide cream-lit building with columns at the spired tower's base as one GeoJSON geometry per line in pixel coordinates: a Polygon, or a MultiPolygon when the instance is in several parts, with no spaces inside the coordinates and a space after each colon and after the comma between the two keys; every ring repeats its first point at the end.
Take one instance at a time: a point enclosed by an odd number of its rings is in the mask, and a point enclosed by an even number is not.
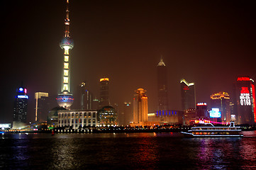
{"type": "Polygon", "coordinates": [[[84,127],[98,126],[98,115],[96,110],[82,111],[58,111],[58,127],[66,127],[72,129],[79,129],[84,127]]]}

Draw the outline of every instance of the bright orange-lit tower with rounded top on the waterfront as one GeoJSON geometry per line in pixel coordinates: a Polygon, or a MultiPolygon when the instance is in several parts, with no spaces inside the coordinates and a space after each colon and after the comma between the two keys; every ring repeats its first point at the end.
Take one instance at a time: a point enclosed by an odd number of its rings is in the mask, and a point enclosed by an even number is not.
{"type": "Polygon", "coordinates": [[[137,89],[133,98],[133,123],[144,125],[148,121],[148,97],[144,89],[137,89]]]}

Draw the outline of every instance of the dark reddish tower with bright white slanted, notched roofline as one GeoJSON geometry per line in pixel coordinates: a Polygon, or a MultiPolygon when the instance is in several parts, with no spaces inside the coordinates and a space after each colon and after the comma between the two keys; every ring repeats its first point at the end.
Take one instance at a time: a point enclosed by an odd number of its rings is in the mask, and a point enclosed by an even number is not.
{"type": "Polygon", "coordinates": [[[185,79],[180,81],[182,92],[182,110],[196,108],[196,92],[194,83],[188,83],[185,79]]]}

